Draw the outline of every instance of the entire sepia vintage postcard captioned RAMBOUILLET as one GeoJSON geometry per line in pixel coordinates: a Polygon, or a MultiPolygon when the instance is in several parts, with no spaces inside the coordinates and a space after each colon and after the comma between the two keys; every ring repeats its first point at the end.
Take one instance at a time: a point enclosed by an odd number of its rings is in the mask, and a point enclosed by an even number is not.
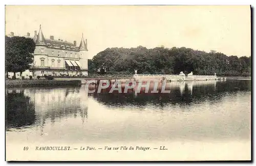
{"type": "Polygon", "coordinates": [[[250,6],[5,14],[7,161],[251,160],[250,6]]]}

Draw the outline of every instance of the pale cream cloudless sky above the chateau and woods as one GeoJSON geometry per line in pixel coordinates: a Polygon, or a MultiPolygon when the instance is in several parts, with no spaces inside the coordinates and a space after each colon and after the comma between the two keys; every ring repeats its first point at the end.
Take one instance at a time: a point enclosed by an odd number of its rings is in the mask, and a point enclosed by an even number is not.
{"type": "Polygon", "coordinates": [[[251,56],[250,6],[6,6],[6,35],[34,35],[79,46],[88,58],[106,48],[187,47],[251,56]]]}

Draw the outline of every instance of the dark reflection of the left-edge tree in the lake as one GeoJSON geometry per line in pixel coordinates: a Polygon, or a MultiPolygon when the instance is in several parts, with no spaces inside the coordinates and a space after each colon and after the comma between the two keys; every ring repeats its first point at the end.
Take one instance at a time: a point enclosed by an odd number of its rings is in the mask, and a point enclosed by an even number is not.
{"type": "Polygon", "coordinates": [[[18,128],[35,123],[35,107],[24,91],[6,93],[6,128],[18,128]]]}

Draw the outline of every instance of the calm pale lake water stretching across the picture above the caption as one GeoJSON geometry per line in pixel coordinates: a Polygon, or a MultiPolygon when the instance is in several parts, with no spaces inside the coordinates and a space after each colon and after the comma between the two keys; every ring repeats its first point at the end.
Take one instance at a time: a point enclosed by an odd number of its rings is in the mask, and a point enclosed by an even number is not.
{"type": "Polygon", "coordinates": [[[170,82],[168,94],[6,90],[11,143],[250,141],[251,81],[170,82]]]}

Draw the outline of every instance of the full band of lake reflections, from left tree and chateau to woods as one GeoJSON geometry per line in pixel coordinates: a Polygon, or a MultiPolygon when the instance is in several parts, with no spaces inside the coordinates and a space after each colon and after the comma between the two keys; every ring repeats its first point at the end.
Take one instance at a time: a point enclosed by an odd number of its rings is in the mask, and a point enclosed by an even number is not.
{"type": "MultiPolygon", "coordinates": [[[[165,90],[170,93],[161,93],[162,85],[157,90],[159,93],[140,93],[129,90],[127,93],[104,89],[101,93],[88,94],[86,86],[61,87],[61,88],[19,88],[6,90],[6,128],[20,128],[34,125],[38,127],[41,134],[44,133],[46,123],[59,122],[73,117],[79,119],[82,126],[88,119],[88,96],[94,101],[105,105],[106,108],[144,108],[163,110],[170,106],[180,107],[181,111],[189,111],[189,106],[195,104],[214,105],[221,102],[232,92],[236,96],[238,92],[250,91],[250,81],[184,81],[167,82],[165,90]]],[[[97,86],[90,86],[90,90],[97,86]]],[[[151,92],[154,82],[150,84],[151,92]]],[[[124,85],[122,85],[122,92],[124,85]]],[[[97,91],[96,91],[97,92],[97,91]]]]}

